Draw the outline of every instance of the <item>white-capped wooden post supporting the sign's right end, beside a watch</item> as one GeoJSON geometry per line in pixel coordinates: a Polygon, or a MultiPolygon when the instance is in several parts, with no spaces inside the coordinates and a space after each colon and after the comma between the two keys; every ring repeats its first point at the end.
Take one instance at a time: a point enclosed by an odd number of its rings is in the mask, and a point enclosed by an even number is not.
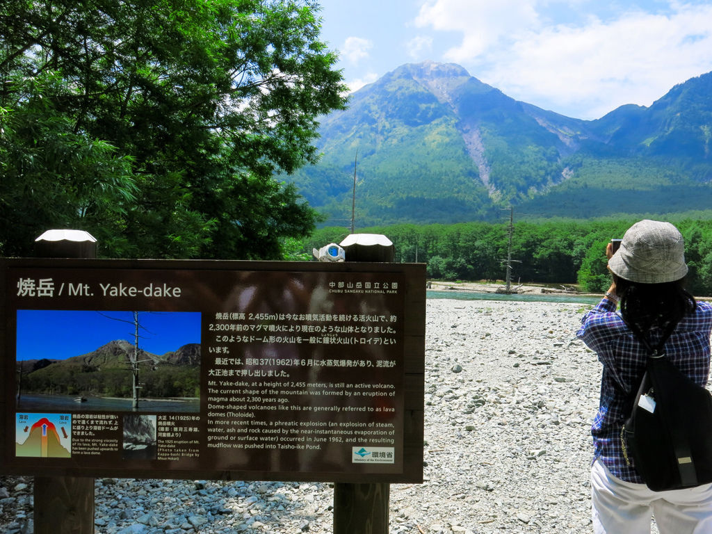
{"type": "MultiPolygon", "coordinates": [[[[391,263],[394,247],[380,234],[351,234],[341,244],[346,261],[391,263]]],[[[334,534],[387,534],[389,483],[335,483],[334,534]]]]}

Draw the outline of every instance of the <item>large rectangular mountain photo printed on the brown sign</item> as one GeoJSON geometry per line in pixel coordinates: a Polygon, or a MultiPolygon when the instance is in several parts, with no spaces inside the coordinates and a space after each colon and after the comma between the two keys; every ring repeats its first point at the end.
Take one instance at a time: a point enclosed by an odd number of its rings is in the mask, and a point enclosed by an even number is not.
{"type": "Polygon", "coordinates": [[[16,409],[198,412],[201,314],[18,310],[16,409]]]}

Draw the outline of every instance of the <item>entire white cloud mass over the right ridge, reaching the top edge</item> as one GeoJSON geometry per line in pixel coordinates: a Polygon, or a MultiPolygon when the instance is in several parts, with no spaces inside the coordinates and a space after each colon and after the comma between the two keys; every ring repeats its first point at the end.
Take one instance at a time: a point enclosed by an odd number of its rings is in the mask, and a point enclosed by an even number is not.
{"type": "Polygon", "coordinates": [[[513,98],[566,115],[598,118],[619,105],[650,105],[676,83],[712,70],[710,4],[671,2],[666,14],[625,11],[550,26],[540,25],[535,0],[491,4],[497,7],[431,0],[419,24],[462,33],[447,61],[513,98]],[[504,14],[515,5],[523,11],[508,23],[504,14]]]}

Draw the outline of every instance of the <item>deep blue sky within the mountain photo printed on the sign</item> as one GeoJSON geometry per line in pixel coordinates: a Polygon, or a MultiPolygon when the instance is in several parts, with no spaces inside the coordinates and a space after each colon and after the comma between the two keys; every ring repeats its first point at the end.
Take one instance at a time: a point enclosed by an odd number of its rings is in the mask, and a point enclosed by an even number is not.
{"type": "MultiPolygon", "coordinates": [[[[64,360],[98,349],[113,340],[133,342],[131,312],[64,310],[17,311],[17,360],[64,360]],[[102,313],[104,315],[102,315],[102,313]]],[[[139,347],[163,355],[200,342],[200,313],[140,313],[139,347]]]]}

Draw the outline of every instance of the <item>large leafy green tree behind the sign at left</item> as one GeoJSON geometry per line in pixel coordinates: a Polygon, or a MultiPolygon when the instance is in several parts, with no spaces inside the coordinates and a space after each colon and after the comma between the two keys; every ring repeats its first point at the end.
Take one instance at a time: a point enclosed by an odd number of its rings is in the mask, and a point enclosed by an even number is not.
{"type": "Polygon", "coordinates": [[[0,253],[71,225],[108,256],[281,257],[317,216],[273,175],[316,162],[317,117],[345,105],[317,11],[4,2],[0,253]]]}

